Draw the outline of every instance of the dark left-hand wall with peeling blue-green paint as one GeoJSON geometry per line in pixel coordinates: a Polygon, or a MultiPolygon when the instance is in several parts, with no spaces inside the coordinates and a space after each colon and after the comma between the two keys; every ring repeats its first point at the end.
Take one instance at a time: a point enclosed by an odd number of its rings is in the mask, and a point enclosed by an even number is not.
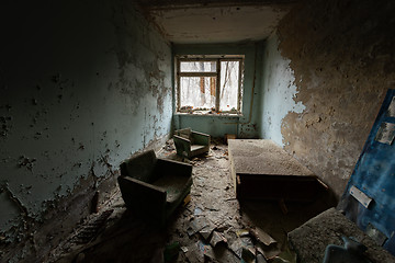
{"type": "Polygon", "coordinates": [[[122,160],[168,137],[171,48],[131,1],[0,12],[0,258],[35,261],[110,194],[122,160]]]}

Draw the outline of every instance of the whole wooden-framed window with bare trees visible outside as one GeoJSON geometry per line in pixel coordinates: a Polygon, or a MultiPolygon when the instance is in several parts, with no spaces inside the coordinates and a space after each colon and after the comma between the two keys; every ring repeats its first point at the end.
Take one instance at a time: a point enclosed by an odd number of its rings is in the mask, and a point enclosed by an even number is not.
{"type": "Polygon", "coordinates": [[[244,56],[182,56],[177,64],[177,112],[240,114],[244,56]]]}

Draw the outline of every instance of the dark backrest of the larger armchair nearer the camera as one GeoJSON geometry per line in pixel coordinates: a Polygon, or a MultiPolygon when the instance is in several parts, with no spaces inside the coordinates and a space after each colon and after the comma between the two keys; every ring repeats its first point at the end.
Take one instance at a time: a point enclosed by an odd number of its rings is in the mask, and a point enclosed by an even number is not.
{"type": "Polygon", "coordinates": [[[154,180],[156,162],[155,151],[145,151],[121,163],[121,175],[150,183],[154,180]]]}

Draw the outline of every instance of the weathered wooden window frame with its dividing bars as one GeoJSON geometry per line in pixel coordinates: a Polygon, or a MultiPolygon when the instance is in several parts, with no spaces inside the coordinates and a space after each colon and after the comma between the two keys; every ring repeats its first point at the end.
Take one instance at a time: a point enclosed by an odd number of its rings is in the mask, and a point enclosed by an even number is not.
{"type": "MultiPolygon", "coordinates": [[[[244,66],[245,66],[245,56],[244,55],[187,55],[187,56],[176,56],[176,112],[184,114],[195,114],[196,110],[190,112],[181,111],[181,78],[182,77],[215,77],[215,114],[236,114],[241,115],[241,100],[242,100],[242,83],[244,83],[244,66]],[[181,72],[181,62],[189,61],[215,61],[216,71],[214,72],[181,72]],[[221,62],[222,61],[239,61],[238,70],[238,91],[237,91],[237,108],[236,112],[233,111],[219,111],[221,104],[221,62]]],[[[199,111],[200,112],[200,111],[199,111]]],[[[211,112],[211,111],[210,111],[211,112]]],[[[205,112],[200,112],[201,114],[206,114],[205,112]]]]}

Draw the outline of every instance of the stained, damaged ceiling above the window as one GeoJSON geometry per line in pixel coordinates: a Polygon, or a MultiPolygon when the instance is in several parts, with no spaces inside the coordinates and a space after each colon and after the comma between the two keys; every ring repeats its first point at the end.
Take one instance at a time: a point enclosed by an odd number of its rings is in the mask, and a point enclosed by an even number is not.
{"type": "Polygon", "coordinates": [[[144,1],[143,9],[174,44],[213,44],[267,38],[294,1],[144,1]]]}

